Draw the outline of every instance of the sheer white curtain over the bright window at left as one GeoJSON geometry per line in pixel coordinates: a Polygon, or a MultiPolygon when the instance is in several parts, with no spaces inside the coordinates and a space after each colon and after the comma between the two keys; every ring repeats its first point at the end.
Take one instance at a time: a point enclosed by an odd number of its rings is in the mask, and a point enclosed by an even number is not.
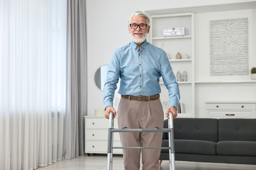
{"type": "Polygon", "coordinates": [[[66,13],[64,0],[0,0],[0,169],[62,159],[66,13]]]}

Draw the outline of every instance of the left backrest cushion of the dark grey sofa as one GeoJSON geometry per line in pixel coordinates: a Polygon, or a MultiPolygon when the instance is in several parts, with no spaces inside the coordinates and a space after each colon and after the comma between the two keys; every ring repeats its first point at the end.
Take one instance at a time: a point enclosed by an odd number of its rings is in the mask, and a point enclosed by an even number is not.
{"type": "Polygon", "coordinates": [[[214,118],[176,118],[173,128],[175,139],[218,140],[218,120],[214,118]]]}

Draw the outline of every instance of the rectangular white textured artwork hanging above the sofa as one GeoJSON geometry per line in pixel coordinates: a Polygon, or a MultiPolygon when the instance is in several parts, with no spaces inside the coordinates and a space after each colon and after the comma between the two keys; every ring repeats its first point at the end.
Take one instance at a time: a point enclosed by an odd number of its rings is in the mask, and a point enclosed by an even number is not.
{"type": "Polygon", "coordinates": [[[248,75],[248,19],[210,21],[211,76],[248,75]]]}

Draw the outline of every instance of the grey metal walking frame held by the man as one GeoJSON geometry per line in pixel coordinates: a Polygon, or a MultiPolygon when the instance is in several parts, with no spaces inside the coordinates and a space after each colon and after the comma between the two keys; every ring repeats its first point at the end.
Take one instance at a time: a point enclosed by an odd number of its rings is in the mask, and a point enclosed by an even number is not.
{"type": "Polygon", "coordinates": [[[109,126],[108,126],[108,170],[112,170],[113,166],[113,149],[114,148],[140,148],[140,149],[169,149],[169,169],[175,170],[175,147],[174,147],[174,131],[173,131],[173,113],[169,112],[168,128],[155,129],[115,129],[113,121],[113,112],[110,112],[109,126]],[[146,147],[146,146],[113,146],[114,132],[168,132],[169,147],[146,147]]]}

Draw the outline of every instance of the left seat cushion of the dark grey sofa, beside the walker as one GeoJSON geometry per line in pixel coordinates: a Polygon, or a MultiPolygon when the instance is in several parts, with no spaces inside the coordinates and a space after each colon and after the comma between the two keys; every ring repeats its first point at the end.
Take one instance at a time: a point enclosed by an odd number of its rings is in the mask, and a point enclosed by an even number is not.
{"type": "MultiPolygon", "coordinates": [[[[163,140],[163,147],[169,146],[168,140],[163,140]]],[[[161,152],[169,152],[168,149],[162,149],[161,152]]],[[[175,152],[186,154],[216,154],[216,143],[211,141],[198,141],[198,140],[186,140],[175,139],[175,152]]]]}

